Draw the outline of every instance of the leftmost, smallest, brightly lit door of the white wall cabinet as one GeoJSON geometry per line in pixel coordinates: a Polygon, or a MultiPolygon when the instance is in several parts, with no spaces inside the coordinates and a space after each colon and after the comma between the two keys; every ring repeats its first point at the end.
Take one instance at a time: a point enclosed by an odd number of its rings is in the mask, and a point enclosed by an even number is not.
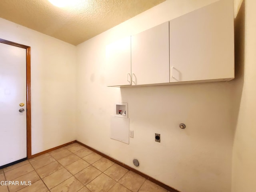
{"type": "Polygon", "coordinates": [[[131,37],[106,46],[107,86],[131,84],[131,37]]]}

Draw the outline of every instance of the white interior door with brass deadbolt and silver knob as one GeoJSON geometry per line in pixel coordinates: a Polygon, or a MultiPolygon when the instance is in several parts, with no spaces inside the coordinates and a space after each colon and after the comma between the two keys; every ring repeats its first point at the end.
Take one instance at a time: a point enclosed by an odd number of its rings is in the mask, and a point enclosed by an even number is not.
{"type": "Polygon", "coordinates": [[[27,157],[26,49],[3,43],[0,43],[0,136],[0,166],[27,157]],[[24,112],[19,112],[20,108],[24,112]]]}

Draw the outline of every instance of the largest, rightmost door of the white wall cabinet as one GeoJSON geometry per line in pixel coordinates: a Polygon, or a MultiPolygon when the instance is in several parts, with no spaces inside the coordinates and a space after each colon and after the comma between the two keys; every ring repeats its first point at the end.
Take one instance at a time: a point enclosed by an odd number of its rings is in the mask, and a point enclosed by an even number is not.
{"type": "Polygon", "coordinates": [[[220,0],[170,21],[170,82],[234,78],[234,16],[220,0]]]}

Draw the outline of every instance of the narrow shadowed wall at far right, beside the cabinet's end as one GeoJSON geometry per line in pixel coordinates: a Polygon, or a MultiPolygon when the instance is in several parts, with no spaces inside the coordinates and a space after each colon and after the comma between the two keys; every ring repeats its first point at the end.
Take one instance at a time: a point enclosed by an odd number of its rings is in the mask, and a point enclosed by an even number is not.
{"type": "Polygon", "coordinates": [[[235,20],[236,119],[232,162],[232,192],[256,191],[256,1],[236,0],[242,6],[235,20]]]}

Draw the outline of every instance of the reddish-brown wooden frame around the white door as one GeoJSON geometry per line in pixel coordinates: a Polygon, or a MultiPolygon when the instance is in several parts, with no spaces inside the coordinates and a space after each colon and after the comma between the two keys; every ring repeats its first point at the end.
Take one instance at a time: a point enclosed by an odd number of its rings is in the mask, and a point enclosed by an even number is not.
{"type": "Polygon", "coordinates": [[[0,43],[26,49],[26,106],[27,106],[27,158],[31,158],[31,72],[30,72],[30,46],[0,39],[0,43]]]}

